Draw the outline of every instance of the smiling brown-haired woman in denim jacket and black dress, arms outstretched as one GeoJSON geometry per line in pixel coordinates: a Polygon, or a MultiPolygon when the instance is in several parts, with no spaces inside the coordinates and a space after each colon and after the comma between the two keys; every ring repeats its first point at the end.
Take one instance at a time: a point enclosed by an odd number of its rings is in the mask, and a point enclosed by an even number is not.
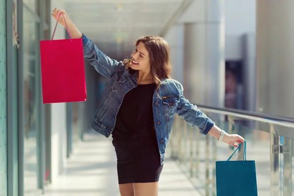
{"type": "MultiPolygon", "coordinates": [[[[58,19],[64,13],[73,38],[82,38],[84,57],[98,73],[110,78],[91,126],[98,133],[112,134],[117,154],[121,196],[157,196],[165,148],[177,113],[201,133],[210,134],[233,147],[244,143],[229,135],[183,96],[183,87],[171,79],[168,43],[161,37],[141,37],[131,59],[110,59],[83,35],[64,10],[53,10],[58,19]]],[[[65,26],[62,17],[58,21],[65,26]]]]}

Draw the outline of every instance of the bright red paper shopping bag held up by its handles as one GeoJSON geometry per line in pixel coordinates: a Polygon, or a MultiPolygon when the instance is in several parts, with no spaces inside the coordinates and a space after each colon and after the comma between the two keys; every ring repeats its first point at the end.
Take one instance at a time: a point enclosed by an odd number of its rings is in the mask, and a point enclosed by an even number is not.
{"type": "Polygon", "coordinates": [[[53,40],[58,20],[51,40],[40,41],[43,103],[85,101],[82,39],[72,39],[66,25],[70,39],[53,40]]]}

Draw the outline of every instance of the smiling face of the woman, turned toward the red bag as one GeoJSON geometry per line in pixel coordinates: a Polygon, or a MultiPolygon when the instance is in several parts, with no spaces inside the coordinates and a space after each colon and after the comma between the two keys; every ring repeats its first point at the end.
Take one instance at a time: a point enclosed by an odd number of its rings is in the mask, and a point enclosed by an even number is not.
{"type": "Polygon", "coordinates": [[[149,52],[145,48],[144,43],[140,42],[138,44],[131,57],[133,59],[131,62],[131,68],[133,70],[150,71],[149,52]]]}

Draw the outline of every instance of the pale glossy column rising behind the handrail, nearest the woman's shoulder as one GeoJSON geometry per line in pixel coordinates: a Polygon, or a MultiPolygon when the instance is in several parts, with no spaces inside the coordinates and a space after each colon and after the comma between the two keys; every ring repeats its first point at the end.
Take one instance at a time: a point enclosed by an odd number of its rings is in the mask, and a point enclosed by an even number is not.
{"type": "Polygon", "coordinates": [[[223,107],[225,93],[223,0],[198,3],[203,17],[185,23],[184,94],[193,103],[223,107]]]}

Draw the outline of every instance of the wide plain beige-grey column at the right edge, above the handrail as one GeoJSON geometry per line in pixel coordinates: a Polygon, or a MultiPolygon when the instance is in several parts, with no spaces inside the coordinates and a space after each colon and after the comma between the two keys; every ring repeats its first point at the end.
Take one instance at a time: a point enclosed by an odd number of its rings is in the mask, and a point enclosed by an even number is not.
{"type": "Polygon", "coordinates": [[[257,109],[267,114],[294,117],[293,9],[293,0],[257,1],[257,109]]]}

